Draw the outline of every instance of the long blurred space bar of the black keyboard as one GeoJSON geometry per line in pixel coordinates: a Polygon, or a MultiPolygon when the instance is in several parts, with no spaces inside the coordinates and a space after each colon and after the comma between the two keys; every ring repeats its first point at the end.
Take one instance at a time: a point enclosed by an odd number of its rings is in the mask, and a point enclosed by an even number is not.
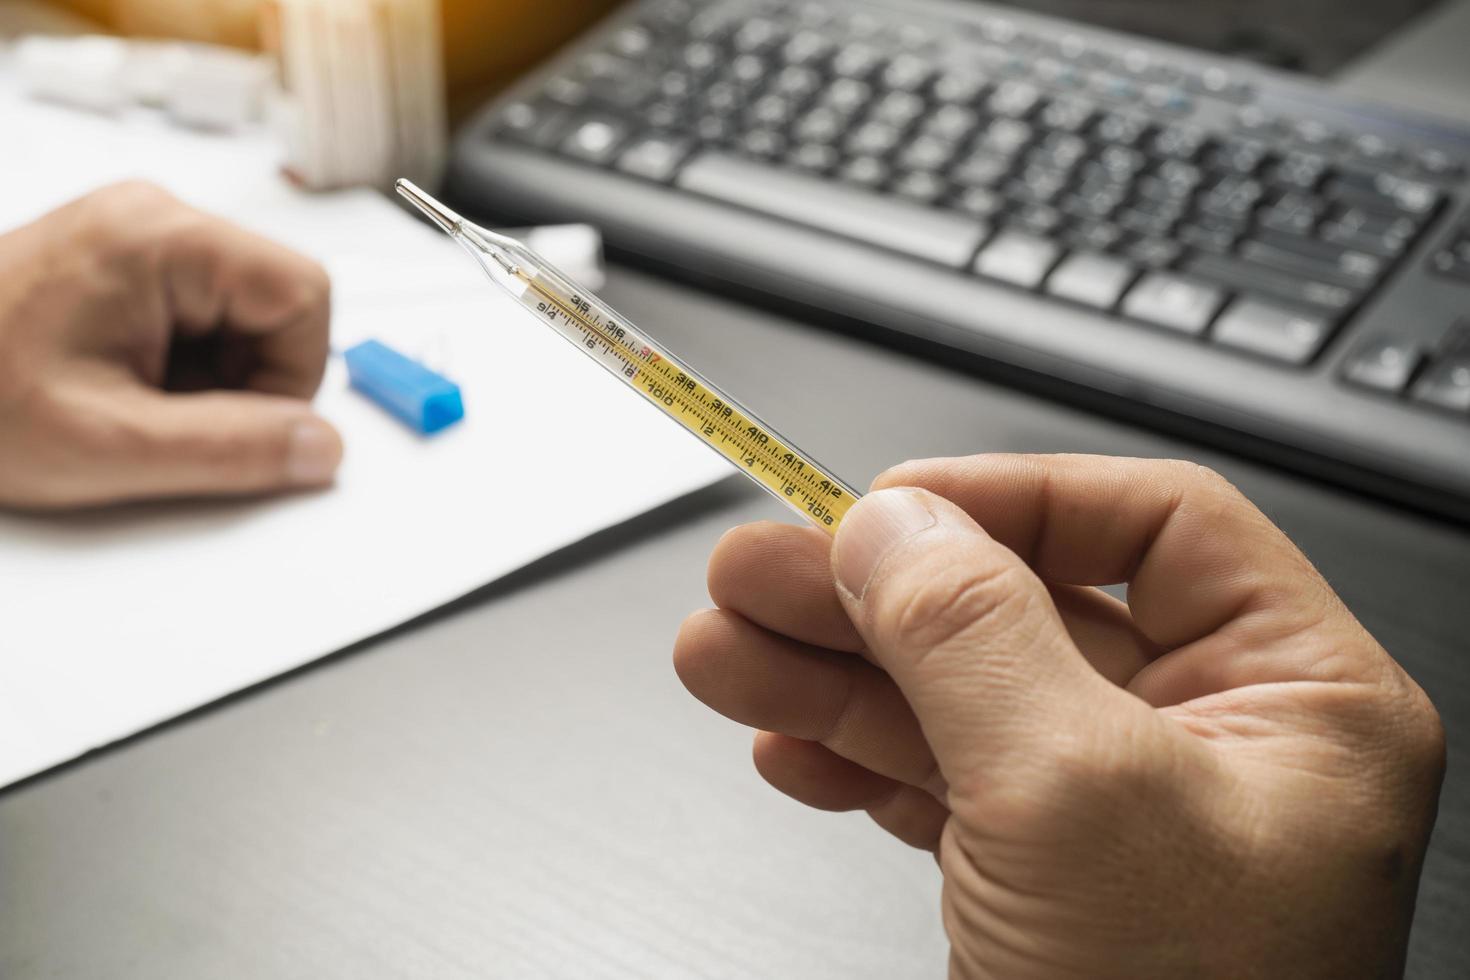
{"type": "Polygon", "coordinates": [[[717,153],[694,157],[675,184],[726,204],[956,269],[969,264],[986,234],[970,217],[717,153]]]}

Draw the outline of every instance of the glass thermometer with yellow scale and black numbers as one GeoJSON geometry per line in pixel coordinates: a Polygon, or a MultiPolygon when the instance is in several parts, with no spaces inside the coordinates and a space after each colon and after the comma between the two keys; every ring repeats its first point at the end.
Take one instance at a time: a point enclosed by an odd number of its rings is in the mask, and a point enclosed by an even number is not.
{"type": "MultiPolygon", "coordinates": [[[[857,501],[853,488],[519,241],[465,220],[409,181],[398,181],[397,188],[542,323],[581,347],[584,354],[734,463],[772,497],[817,527],[836,533],[842,517],[857,501]]],[[[529,367],[553,381],[554,367],[529,367]]],[[[548,383],[547,389],[553,385],[548,383]]]]}

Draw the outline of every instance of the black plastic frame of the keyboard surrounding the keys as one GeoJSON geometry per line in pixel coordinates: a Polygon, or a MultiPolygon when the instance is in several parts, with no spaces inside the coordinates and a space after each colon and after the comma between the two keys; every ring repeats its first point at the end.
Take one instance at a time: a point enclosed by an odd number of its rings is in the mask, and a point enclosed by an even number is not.
{"type": "MultiPolygon", "coordinates": [[[[1008,379],[1019,369],[1048,394],[1055,385],[1047,382],[1060,381],[1070,395],[1129,419],[1470,520],[1470,413],[1344,383],[1363,344],[1391,336],[1438,351],[1470,316],[1470,281],[1433,267],[1470,225],[1466,178],[1442,184],[1445,204],[1322,356],[1288,367],[497,137],[507,106],[537,97],[637,22],[639,9],[614,13],[459,134],[453,200],[498,219],[589,220],[617,254],[662,270],[825,311],[826,322],[876,328],[967,366],[998,364],[1008,379]]],[[[1255,104],[1273,116],[1470,154],[1470,134],[1460,128],[1345,100],[1313,79],[989,4],[913,0],[904,9],[976,25],[1004,18],[1042,37],[1219,66],[1258,93],[1255,104]]]]}

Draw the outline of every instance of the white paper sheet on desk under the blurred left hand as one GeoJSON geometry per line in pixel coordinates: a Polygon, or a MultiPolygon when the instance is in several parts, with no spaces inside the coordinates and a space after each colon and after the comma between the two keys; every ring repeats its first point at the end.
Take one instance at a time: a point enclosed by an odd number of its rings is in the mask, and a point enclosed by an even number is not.
{"type": "MultiPolygon", "coordinates": [[[[151,178],[325,262],[334,345],[382,339],[448,373],[466,401],[463,423],[423,439],[348,391],[334,359],[318,407],[347,442],[335,489],[0,513],[0,786],[376,635],[731,472],[538,328],[447,238],[372,192],[288,188],[263,137],[40,106],[3,71],[0,119],[0,229],[101,182],[151,178]],[[504,369],[539,356],[557,359],[578,398],[537,403],[504,369]]],[[[485,638],[487,655],[494,642],[485,638]]]]}

